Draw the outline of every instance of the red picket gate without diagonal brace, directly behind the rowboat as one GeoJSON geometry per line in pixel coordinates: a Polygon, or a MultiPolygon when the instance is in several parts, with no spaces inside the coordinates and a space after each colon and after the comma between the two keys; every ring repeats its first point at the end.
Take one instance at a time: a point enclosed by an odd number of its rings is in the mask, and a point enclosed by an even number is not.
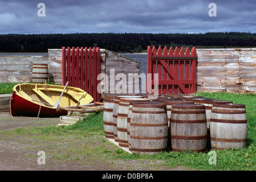
{"type": "Polygon", "coordinates": [[[100,49],[62,47],[62,85],[81,88],[100,102],[100,93],[97,92],[97,75],[100,73],[100,49]]]}

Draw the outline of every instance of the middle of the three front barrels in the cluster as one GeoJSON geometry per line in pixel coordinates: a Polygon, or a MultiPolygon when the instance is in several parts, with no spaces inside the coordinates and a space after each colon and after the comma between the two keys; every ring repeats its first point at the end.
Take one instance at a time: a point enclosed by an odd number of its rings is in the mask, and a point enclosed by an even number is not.
{"type": "Polygon", "coordinates": [[[205,106],[201,104],[172,105],[170,138],[172,151],[205,151],[207,138],[205,106]]]}

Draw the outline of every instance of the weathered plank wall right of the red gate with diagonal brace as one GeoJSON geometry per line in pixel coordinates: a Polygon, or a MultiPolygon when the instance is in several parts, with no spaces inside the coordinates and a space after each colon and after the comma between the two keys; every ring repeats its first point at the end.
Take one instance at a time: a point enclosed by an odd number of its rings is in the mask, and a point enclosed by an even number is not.
{"type": "Polygon", "coordinates": [[[197,49],[197,92],[256,92],[256,48],[197,49]]]}

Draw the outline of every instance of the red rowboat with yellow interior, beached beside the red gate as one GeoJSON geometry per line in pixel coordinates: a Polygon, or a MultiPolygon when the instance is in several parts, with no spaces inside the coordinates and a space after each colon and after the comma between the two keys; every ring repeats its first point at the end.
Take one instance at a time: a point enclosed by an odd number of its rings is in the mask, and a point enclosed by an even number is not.
{"type": "Polygon", "coordinates": [[[10,100],[11,116],[59,117],[76,105],[90,105],[94,99],[80,88],[48,84],[18,84],[10,100]],[[56,106],[57,105],[57,106],[56,106]]]}

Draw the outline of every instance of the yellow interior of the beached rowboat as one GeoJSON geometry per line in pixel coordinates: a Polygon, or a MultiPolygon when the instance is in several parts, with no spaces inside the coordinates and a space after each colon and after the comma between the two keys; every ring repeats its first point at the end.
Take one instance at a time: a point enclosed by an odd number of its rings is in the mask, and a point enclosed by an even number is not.
{"type": "MultiPolygon", "coordinates": [[[[48,85],[48,84],[18,84],[13,90],[21,97],[26,98],[35,104],[54,107],[58,102],[61,93],[64,90],[62,85],[48,85]]],[[[80,88],[67,86],[59,101],[60,107],[69,107],[76,105],[90,104],[93,98],[87,92],[80,88]]]]}

